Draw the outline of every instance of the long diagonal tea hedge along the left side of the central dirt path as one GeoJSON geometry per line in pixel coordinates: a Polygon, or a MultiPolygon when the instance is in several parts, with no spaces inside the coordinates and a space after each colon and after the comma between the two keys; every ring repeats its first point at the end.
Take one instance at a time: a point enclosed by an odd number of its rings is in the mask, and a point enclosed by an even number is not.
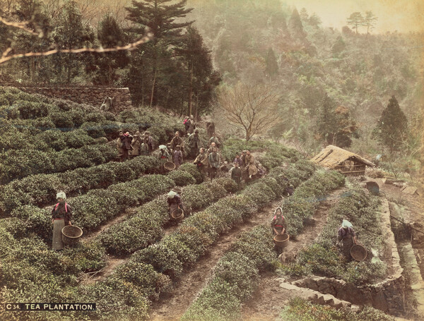
{"type": "Polygon", "coordinates": [[[259,207],[275,199],[279,189],[273,178],[262,178],[252,184],[251,188],[242,190],[239,195],[222,198],[203,212],[184,220],[177,231],[165,236],[159,243],[134,253],[131,260],[151,264],[157,271],[172,278],[177,277],[184,266],[192,265],[204,254],[206,248],[216,241],[219,234],[241,224],[243,218],[250,217],[259,207]],[[258,193],[262,197],[252,200],[258,193]],[[242,202],[243,200],[245,202],[242,202]],[[208,229],[208,226],[203,224],[202,213],[206,213],[210,221],[214,220],[213,229],[208,229]],[[164,255],[167,260],[163,260],[164,255]]]}

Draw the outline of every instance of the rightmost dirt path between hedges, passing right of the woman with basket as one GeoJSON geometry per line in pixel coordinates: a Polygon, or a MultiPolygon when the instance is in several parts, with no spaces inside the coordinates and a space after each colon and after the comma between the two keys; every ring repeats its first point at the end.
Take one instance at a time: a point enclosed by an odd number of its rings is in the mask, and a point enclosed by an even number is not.
{"type": "MultiPolygon", "coordinates": [[[[295,255],[302,249],[309,246],[321,233],[326,224],[326,213],[330,207],[333,207],[338,196],[341,195],[346,188],[334,190],[327,200],[322,202],[312,218],[305,226],[302,234],[296,240],[290,240],[288,246],[284,249],[284,253],[288,260],[293,260],[295,255]]],[[[280,284],[281,276],[274,272],[269,272],[261,276],[261,281],[257,291],[252,298],[247,301],[242,307],[242,320],[259,321],[259,320],[275,320],[287,305],[293,291],[282,289],[280,284]]],[[[299,293],[297,293],[298,295],[299,293]]]]}

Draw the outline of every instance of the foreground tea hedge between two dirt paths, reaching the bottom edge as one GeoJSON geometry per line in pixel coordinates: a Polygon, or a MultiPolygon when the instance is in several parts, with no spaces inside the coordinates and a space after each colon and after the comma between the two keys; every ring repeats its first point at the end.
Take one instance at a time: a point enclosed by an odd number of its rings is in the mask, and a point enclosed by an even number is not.
{"type": "Polygon", "coordinates": [[[257,288],[259,272],[273,269],[276,252],[269,226],[241,234],[218,261],[213,279],[181,320],[239,320],[241,303],[257,288]]]}

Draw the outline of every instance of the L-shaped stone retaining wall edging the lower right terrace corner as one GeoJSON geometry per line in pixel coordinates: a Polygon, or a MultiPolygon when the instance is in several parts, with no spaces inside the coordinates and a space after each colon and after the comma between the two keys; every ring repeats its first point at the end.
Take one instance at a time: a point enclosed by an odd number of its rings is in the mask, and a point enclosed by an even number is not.
{"type": "Polygon", "coordinates": [[[382,200],[381,213],[383,239],[387,248],[391,250],[391,265],[394,269],[389,277],[377,284],[363,286],[355,286],[353,283],[332,277],[306,277],[293,281],[292,284],[326,293],[354,304],[372,305],[392,315],[400,315],[404,311],[405,279],[402,275],[404,269],[399,262],[399,253],[390,226],[389,203],[385,198],[382,200]]]}

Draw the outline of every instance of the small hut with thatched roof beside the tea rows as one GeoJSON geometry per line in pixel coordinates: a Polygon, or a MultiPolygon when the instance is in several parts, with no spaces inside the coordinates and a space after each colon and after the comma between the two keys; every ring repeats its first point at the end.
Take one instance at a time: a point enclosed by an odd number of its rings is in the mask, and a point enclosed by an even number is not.
{"type": "Polygon", "coordinates": [[[375,166],[369,160],[334,145],[325,147],[311,161],[329,169],[337,169],[345,175],[353,176],[364,175],[366,166],[375,166]]]}

